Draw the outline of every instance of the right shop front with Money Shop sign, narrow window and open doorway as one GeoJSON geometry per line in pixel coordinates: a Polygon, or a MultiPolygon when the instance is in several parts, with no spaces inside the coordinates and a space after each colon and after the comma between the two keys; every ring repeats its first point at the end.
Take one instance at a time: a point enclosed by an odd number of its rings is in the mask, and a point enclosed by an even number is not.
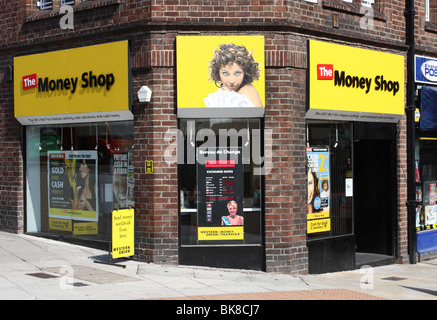
{"type": "Polygon", "coordinates": [[[308,72],[309,272],[394,262],[404,57],[310,40],[308,72]]]}

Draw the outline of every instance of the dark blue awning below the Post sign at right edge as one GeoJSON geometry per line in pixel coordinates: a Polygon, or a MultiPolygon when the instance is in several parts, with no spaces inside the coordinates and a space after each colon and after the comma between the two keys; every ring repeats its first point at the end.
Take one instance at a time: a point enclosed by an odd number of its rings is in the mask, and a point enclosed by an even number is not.
{"type": "Polygon", "coordinates": [[[437,89],[423,86],[420,98],[420,128],[437,130],[437,89]]]}

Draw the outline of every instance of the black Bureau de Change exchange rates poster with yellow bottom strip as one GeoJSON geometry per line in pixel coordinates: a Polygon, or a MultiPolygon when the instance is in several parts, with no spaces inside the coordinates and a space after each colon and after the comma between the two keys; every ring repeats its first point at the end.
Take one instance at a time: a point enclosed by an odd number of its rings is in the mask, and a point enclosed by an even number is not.
{"type": "Polygon", "coordinates": [[[197,150],[198,240],[244,240],[241,148],[197,150]]]}

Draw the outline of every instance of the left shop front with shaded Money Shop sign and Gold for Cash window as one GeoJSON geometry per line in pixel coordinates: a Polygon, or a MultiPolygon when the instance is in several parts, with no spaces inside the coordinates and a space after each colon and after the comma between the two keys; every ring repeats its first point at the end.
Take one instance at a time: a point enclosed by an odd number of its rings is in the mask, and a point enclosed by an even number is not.
{"type": "Polygon", "coordinates": [[[134,207],[127,41],[14,58],[24,128],[25,232],[107,243],[134,207]]]}

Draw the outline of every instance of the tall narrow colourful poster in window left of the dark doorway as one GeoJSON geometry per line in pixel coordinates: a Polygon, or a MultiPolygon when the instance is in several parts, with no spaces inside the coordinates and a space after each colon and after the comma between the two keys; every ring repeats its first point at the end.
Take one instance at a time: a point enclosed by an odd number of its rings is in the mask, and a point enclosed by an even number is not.
{"type": "Polygon", "coordinates": [[[315,233],[329,231],[329,149],[315,147],[307,148],[307,166],[307,232],[315,233]]]}

